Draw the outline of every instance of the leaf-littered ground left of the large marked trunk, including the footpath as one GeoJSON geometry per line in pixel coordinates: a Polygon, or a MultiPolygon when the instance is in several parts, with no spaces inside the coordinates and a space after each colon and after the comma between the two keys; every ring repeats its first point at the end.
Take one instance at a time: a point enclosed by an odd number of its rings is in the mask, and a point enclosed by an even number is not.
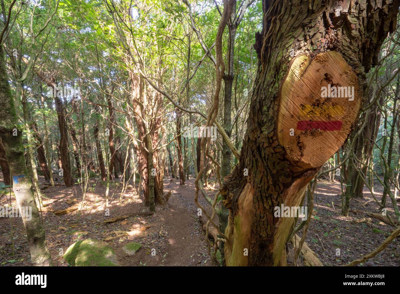
{"type": "MultiPolygon", "coordinates": [[[[116,180],[117,182],[118,180],[116,180]]],[[[179,180],[165,179],[164,191],[172,190],[172,195],[166,206],[157,206],[156,214],[149,217],[130,217],[124,221],[103,224],[112,217],[134,212],[148,211],[144,206],[142,196],[134,195],[128,189],[119,205],[119,191],[114,189],[113,201],[110,202],[109,215],[106,215],[104,205],[105,187],[100,182],[91,183],[92,191],[86,194],[87,205],[80,212],[56,216],[53,213],[43,213],[46,239],[53,257],[54,265],[66,266],[60,252],[76,242],[86,238],[103,240],[117,236],[118,232],[131,234],[107,241],[121,265],[124,266],[209,266],[205,234],[197,219],[197,208],[194,204],[194,178],[186,180],[186,185],[180,186],[179,180]],[[140,230],[146,228],[145,230],[140,230]],[[115,233],[117,232],[117,233],[115,233]],[[139,242],[142,248],[134,256],[127,256],[122,247],[128,242],[139,242]],[[153,252],[153,254],[152,254],[153,252]],[[155,255],[154,255],[155,253],[155,255]]],[[[50,187],[43,191],[48,199],[44,205],[52,209],[64,209],[70,205],[66,201],[82,200],[79,186],[66,188],[64,185],[50,187]]],[[[205,201],[200,200],[203,205],[205,201]]],[[[0,206],[9,204],[5,196],[0,199],[0,206]]],[[[16,206],[15,201],[12,206],[16,206]]],[[[2,266],[32,265],[22,219],[13,219],[14,248],[12,255],[12,240],[10,238],[10,218],[0,218],[0,264],[2,266]]]]}

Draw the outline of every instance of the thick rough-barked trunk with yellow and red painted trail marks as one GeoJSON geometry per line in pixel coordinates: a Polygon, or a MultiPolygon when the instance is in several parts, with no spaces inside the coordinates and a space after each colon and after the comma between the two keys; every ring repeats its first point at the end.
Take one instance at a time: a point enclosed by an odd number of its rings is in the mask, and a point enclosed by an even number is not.
{"type": "Polygon", "coordinates": [[[230,209],[227,265],[279,264],[294,218],[274,217],[275,207],[298,207],[307,184],[348,137],[366,91],[365,72],[394,31],[399,6],[398,0],[262,3],[247,131],[240,162],[222,189],[230,209]],[[322,95],[322,87],[335,85],[354,87],[354,99],[322,95]]]}

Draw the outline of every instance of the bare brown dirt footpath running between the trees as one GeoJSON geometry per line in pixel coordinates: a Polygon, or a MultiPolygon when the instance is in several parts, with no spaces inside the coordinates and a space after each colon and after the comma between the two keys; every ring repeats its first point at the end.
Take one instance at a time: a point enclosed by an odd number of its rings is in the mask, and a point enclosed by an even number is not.
{"type": "MultiPolygon", "coordinates": [[[[172,190],[172,195],[166,207],[158,206],[152,221],[156,224],[157,232],[149,232],[147,241],[156,249],[156,256],[148,251],[138,251],[127,264],[162,266],[209,266],[210,258],[207,252],[205,234],[197,220],[197,208],[194,204],[194,178],[186,180],[184,186],[179,180],[164,181],[164,191],[172,190]],[[162,232],[160,233],[162,225],[162,232]],[[158,238],[158,242],[155,241],[158,238]],[[159,253],[158,253],[159,252],[159,253]]],[[[206,205],[204,201],[201,201],[206,205]]],[[[121,250],[118,250],[121,252],[121,250]]],[[[117,252],[117,254],[118,254],[117,252]]],[[[119,254],[121,255],[121,254],[119,254]]],[[[128,260],[127,260],[128,261],[128,260]]]]}

